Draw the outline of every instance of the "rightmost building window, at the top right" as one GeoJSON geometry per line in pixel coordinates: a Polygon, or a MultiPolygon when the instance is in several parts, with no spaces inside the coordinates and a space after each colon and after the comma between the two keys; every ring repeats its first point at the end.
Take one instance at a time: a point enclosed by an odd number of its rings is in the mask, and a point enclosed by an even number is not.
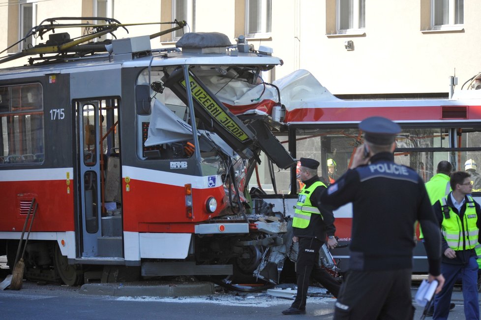
{"type": "Polygon", "coordinates": [[[462,25],[464,23],[464,0],[431,0],[431,26],[433,30],[462,25]]]}

